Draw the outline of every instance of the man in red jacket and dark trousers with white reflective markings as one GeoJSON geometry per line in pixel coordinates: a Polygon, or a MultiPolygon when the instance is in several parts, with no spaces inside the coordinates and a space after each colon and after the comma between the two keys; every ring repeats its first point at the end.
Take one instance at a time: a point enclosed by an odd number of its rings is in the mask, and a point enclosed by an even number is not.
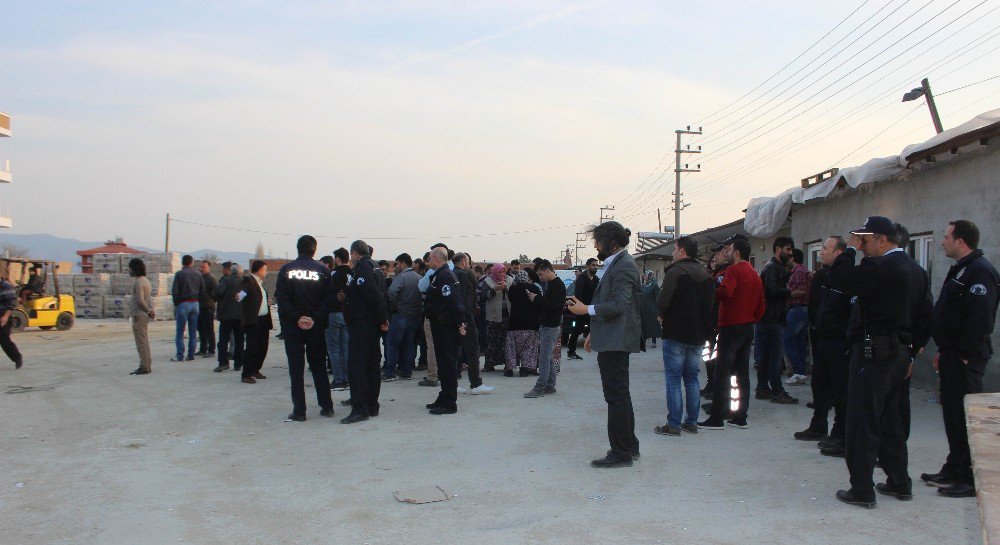
{"type": "Polygon", "coordinates": [[[730,263],[722,283],[715,290],[719,302],[719,346],[715,366],[715,390],[712,392],[712,413],[698,427],[721,430],[728,424],[740,429],[747,427],[747,407],[750,402],[750,344],[753,324],[764,315],[764,285],[750,265],[750,241],[733,235],[723,243],[721,259],[730,263]],[[730,405],[730,377],[736,377],[739,404],[730,405]]]}

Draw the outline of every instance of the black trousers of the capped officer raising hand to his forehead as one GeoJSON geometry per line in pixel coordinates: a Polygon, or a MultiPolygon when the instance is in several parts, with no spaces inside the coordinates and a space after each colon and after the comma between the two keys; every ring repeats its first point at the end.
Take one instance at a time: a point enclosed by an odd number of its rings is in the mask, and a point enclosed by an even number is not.
{"type": "MultiPolygon", "coordinates": [[[[888,338],[885,339],[886,342],[888,338]]],[[[877,360],[865,360],[862,347],[851,347],[850,378],[847,385],[847,427],[845,456],[851,473],[851,490],[859,497],[875,497],[875,459],[882,465],[889,486],[911,486],[906,437],[909,432],[909,349],[896,339],[889,352],[877,360]],[[903,407],[906,403],[907,407],[903,407]]]]}

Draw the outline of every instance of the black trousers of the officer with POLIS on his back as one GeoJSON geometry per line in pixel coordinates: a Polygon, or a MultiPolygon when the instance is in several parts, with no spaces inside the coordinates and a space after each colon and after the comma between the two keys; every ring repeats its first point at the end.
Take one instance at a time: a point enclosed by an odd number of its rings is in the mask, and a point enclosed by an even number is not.
{"type": "Polygon", "coordinates": [[[313,376],[313,388],[321,409],[333,410],[330,396],[330,377],[326,374],[326,328],[300,329],[289,327],[285,330],[285,355],[288,357],[288,378],[292,382],[292,414],[306,415],[305,370],[309,360],[309,371],[313,376]]]}

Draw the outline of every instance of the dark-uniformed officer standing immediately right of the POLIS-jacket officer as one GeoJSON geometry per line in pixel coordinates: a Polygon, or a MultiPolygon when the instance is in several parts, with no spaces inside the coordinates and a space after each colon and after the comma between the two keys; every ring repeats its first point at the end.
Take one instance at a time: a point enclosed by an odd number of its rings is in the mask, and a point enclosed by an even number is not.
{"type": "Polygon", "coordinates": [[[385,278],[371,258],[371,247],[363,240],[351,243],[354,270],[344,289],[344,321],[347,322],[347,376],[351,383],[351,414],[342,424],[354,424],[378,416],[382,387],[379,341],[389,330],[385,278]]]}

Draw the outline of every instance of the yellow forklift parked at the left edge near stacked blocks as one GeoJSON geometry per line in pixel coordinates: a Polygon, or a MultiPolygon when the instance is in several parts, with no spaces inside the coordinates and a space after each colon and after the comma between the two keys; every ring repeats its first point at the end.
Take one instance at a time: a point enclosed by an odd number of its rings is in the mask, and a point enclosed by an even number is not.
{"type": "Polygon", "coordinates": [[[59,277],[56,275],[56,263],[43,259],[0,258],[3,273],[18,293],[17,308],[10,315],[11,329],[24,331],[26,327],[38,327],[66,331],[73,327],[76,319],[76,304],[72,295],[59,291],[59,277]],[[36,292],[28,293],[27,299],[21,302],[20,294],[28,287],[28,271],[35,268],[40,282],[36,280],[36,292]],[[45,285],[51,280],[53,293],[45,294],[45,285]]]}

